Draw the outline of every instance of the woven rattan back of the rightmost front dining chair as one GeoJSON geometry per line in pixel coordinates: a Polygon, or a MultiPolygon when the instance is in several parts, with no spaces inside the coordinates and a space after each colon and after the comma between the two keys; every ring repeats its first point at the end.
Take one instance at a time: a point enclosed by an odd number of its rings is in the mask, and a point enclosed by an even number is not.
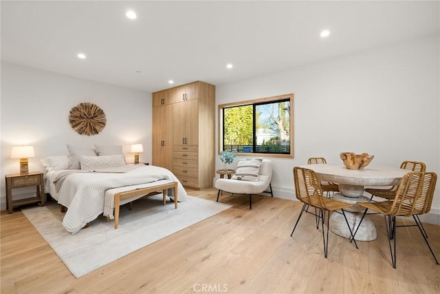
{"type": "Polygon", "coordinates": [[[414,216],[428,213],[434,198],[437,174],[410,171],[397,188],[397,194],[388,215],[414,216]]]}

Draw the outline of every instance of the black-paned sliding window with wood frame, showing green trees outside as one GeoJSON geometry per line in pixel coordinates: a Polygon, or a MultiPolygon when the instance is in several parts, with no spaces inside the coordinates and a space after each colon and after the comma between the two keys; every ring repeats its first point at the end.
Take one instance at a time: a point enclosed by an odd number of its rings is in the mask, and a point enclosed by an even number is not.
{"type": "Polygon", "coordinates": [[[219,105],[219,151],[294,157],[294,94],[219,105]]]}

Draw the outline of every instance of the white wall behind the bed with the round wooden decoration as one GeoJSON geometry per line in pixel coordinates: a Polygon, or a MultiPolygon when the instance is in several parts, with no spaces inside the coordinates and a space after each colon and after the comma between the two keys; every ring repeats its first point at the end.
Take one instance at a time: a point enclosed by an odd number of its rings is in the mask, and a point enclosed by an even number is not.
{"type": "MultiPolygon", "coordinates": [[[[151,93],[1,63],[3,179],[5,174],[19,173],[19,160],[10,158],[14,145],[34,146],[36,157],[29,159],[30,171],[44,171],[40,160],[45,156],[67,154],[66,143],[122,145],[128,162],[134,161],[130,145],[142,143],[140,161],[151,162],[151,122],[151,93]],[[107,125],[100,134],[79,135],[70,127],[69,111],[81,102],[104,110],[107,125]]],[[[0,206],[5,209],[4,180],[0,187],[0,206]]]]}

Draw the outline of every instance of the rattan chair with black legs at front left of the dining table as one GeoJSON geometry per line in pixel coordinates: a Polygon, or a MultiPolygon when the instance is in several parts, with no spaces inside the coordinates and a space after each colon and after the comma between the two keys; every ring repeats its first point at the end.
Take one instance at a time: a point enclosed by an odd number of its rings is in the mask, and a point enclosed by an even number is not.
{"type": "MultiPolygon", "coordinates": [[[[303,212],[309,212],[307,209],[309,207],[315,207],[318,210],[318,213],[314,214],[317,218],[320,219],[322,225],[322,242],[324,244],[324,256],[327,258],[327,253],[329,251],[329,216],[330,211],[341,210],[342,215],[344,215],[345,222],[347,222],[347,226],[349,227],[352,240],[354,240],[354,235],[351,231],[351,227],[345,216],[344,209],[347,207],[351,207],[350,203],[340,202],[337,200],[329,199],[322,194],[322,187],[320,185],[320,181],[316,177],[316,174],[311,169],[305,169],[303,167],[294,167],[294,184],[295,184],[295,194],[296,198],[303,202],[303,209],[301,209],[300,215],[298,216],[298,220],[296,220],[295,227],[292,230],[290,236],[294,234],[296,226],[303,215],[303,212]],[[327,220],[326,220],[327,216],[327,220]],[[325,236],[324,223],[327,221],[327,238],[325,236]]],[[[358,244],[356,244],[356,240],[354,240],[356,248],[358,248],[358,244]]]]}

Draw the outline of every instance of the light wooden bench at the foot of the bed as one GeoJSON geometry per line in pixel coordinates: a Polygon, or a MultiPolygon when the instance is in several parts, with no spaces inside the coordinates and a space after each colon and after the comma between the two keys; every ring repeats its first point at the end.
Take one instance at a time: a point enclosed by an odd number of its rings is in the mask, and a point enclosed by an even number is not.
{"type": "MultiPolygon", "coordinates": [[[[174,208],[177,209],[177,182],[171,182],[169,180],[159,180],[157,182],[151,182],[149,183],[151,185],[148,185],[148,187],[144,187],[145,185],[133,185],[133,186],[127,186],[127,187],[120,187],[115,189],[109,189],[106,191],[106,193],[114,193],[114,200],[115,200],[115,229],[118,229],[119,225],[119,210],[121,205],[121,200],[128,200],[126,202],[131,202],[139,198],[153,196],[148,195],[149,193],[161,191],[164,195],[164,205],[166,204],[166,190],[168,189],[174,189],[174,208]]],[[[125,202],[125,203],[126,203],[125,202]]],[[[124,203],[122,203],[124,204],[124,203]]],[[[110,221],[109,216],[107,216],[107,222],[110,221]]]]}

